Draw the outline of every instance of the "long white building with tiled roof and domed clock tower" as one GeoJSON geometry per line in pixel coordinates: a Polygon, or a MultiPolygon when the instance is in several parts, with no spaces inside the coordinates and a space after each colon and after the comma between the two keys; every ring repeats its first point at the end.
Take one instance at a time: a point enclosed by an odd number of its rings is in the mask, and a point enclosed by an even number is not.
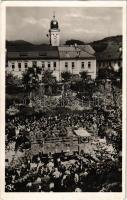
{"type": "Polygon", "coordinates": [[[37,66],[43,75],[45,70],[51,70],[58,81],[61,73],[68,71],[79,75],[87,71],[91,79],[96,78],[96,57],[90,45],[60,45],[59,23],[53,16],[50,22],[48,45],[33,45],[31,43],[13,43],[7,45],[6,72],[22,78],[29,68],[37,66]]]}

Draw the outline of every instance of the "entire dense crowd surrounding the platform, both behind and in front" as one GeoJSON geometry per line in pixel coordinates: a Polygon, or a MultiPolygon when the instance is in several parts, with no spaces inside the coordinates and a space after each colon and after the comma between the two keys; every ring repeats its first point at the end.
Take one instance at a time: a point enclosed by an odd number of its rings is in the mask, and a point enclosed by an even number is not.
{"type": "MultiPolygon", "coordinates": [[[[5,190],[7,192],[115,192],[121,191],[121,151],[122,137],[121,107],[109,105],[108,109],[96,107],[91,110],[62,109],[33,114],[31,116],[6,117],[6,149],[14,143],[15,153],[24,156],[20,164],[9,163],[5,169],[5,190]],[[82,152],[72,157],[59,154],[25,156],[31,141],[39,138],[64,138],[68,129],[83,128],[94,137],[115,143],[115,155],[97,148],[97,159],[82,152]],[[117,147],[116,147],[117,144],[117,147]],[[66,157],[66,159],[65,159],[66,157]],[[97,181],[96,181],[97,180],[97,181]]],[[[96,144],[97,147],[97,144],[96,144]]]]}

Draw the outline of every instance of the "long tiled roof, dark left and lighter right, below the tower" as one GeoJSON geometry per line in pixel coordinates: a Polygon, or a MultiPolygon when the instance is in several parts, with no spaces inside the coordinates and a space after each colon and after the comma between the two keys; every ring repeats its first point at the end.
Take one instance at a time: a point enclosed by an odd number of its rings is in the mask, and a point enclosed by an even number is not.
{"type": "Polygon", "coordinates": [[[95,59],[91,53],[89,45],[83,45],[81,48],[74,46],[52,47],[45,45],[33,45],[7,48],[8,59],[95,59]]]}

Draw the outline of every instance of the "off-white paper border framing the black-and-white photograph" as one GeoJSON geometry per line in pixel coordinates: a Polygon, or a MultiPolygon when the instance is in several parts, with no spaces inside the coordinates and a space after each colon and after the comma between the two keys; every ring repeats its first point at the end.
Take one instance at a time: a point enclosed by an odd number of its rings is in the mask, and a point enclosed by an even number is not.
{"type": "Polygon", "coordinates": [[[0,4],[0,198],[3,200],[28,199],[124,199],[126,166],[126,1],[5,1],[0,4]],[[7,7],[122,7],[123,9],[123,85],[122,85],[122,192],[38,193],[5,192],[5,41],[7,7]]]}

